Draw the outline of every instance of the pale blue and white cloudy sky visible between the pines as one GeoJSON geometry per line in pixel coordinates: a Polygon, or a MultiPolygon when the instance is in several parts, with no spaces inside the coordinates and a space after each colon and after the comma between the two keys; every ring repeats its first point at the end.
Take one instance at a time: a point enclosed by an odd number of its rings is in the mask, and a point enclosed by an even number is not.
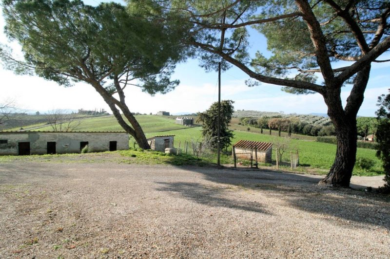
{"type": "MultiPolygon", "coordinates": [[[[88,0],[86,4],[96,5],[97,1],[88,0]]],[[[10,44],[20,49],[15,42],[7,42],[3,33],[4,19],[0,10],[0,43],[10,44]]],[[[252,37],[252,48],[266,48],[266,40],[262,36],[252,37]]],[[[390,54],[382,55],[379,59],[390,59],[390,54]]],[[[339,62],[335,67],[351,65],[339,62]]],[[[390,89],[390,62],[373,63],[370,80],[365,92],[364,102],[358,112],[360,116],[375,116],[377,97],[387,94],[390,89]]],[[[38,76],[15,75],[0,65],[0,103],[15,100],[16,105],[23,111],[46,113],[52,110],[100,110],[110,111],[101,96],[92,86],[86,83],[76,83],[72,87],[59,86],[52,81],[38,76]]],[[[175,113],[194,113],[205,111],[218,100],[217,73],[206,73],[198,66],[195,59],[188,60],[176,66],[172,79],[179,79],[180,84],[175,90],[166,94],[150,96],[137,87],[125,89],[126,103],[133,112],[153,113],[169,111],[175,113]]],[[[221,74],[221,99],[234,101],[235,110],[254,111],[283,111],[284,113],[326,113],[327,107],[323,97],[316,94],[294,95],[280,91],[280,86],[260,84],[248,87],[245,80],[249,76],[238,68],[221,74]]],[[[345,105],[351,91],[347,86],[342,89],[341,98],[345,105]]]]}

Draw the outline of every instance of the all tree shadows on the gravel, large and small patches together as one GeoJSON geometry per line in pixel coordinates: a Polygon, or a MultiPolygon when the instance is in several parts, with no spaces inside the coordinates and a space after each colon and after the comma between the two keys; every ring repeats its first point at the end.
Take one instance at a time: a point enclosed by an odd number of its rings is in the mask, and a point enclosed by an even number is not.
{"type": "MultiPolygon", "coordinates": [[[[182,168],[182,167],[181,167],[182,168]]],[[[365,193],[352,188],[334,188],[317,185],[319,176],[282,173],[261,170],[231,170],[216,167],[186,167],[194,173],[202,174],[205,180],[221,186],[240,186],[266,195],[278,195],[288,207],[323,215],[330,221],[352,221],[368,223],[390,229],[390,197],[365,193]],[[280,195],[282,194],[282,195],[280,195]]],[[[159,183],[160,191],[179,193],[185,199],[210,206],[227,206],[268,213],[267,207],[259,203],[228,200],[224,189],[207,189],[195,183],[159,183]]],[[[354,185],[362,188],[364,186],[354,185]]]]}

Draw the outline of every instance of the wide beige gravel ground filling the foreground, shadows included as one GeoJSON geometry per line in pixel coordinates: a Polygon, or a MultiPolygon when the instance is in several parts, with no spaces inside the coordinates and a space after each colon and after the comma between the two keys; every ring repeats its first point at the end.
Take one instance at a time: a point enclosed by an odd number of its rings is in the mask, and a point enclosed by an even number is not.
{"type": "MultiPolygon", "coordinates": [[[[359,179],[354,187],[365,185],[359,179]]],[[[389,258],[389,197],[318,180],[210,167],[3,163],[0,258],[389,258]]]]}

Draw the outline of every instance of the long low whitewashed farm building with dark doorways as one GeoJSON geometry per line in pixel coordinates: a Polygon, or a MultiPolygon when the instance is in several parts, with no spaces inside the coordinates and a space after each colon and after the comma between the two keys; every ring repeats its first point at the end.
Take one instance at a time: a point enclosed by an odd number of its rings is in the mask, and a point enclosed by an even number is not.
{"type": "Polygon", "coordinates": [[[129,149],[127,132],[0,132],[0,155],[41,155],[129,149]]]}

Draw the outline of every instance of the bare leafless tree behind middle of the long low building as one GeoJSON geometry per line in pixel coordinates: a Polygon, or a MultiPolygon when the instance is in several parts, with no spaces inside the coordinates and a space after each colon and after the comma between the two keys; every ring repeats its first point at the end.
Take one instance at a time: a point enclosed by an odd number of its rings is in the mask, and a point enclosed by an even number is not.
{"type": "Polygon", "coordinates": [[[74,131],[81,124],[77,113],[69,113],[66,110],[53,110],[45,114],[45,117],[53,131],[74,131]]]}

